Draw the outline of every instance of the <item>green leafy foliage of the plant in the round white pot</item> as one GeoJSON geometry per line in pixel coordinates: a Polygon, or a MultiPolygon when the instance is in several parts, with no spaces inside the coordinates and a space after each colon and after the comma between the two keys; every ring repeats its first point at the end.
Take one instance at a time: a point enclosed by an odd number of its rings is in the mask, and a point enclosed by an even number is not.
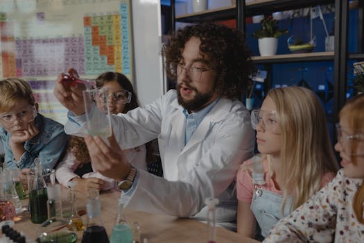
{"type": "Polygon", "coordinates": [[[277,20],[273,19],[273,17],[265,16],[264,19],[261,20],[261,29],[257,30],[253,33],[253,37],[258,39],[264,37],[279,37],[288,33],[287,29],[281,30],[278,28],[277,20]]]}

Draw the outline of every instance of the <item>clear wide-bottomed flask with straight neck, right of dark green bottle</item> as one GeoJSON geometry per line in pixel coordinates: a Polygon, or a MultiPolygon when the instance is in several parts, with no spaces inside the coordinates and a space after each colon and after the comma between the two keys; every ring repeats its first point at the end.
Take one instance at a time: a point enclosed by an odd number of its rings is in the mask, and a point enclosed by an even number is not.
{"type": "Polygon", "coordinates": [[[36,242],[39,243],[74,243],[77,241],[76,228],[63,218],[60,185],[46,187],[48,194],[48,219],[37,230],[36,242]]]}

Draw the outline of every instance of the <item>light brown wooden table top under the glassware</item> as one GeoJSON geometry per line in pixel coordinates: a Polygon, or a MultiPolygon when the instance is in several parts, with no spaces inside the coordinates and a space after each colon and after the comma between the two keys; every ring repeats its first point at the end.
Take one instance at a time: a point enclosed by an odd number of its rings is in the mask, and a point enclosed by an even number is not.
{"type": "MultiPolygon", "coordinates": [[[[67,189],[62,189],[62,194],[66,194],[67,189]]],[[[78,210],[85,208],[86,195],[78,194],[78,210]]],[[[110,191],[103,192],[99,199],[101,201],[101,217],[110,236],[112,225],[116,216],[116,201],[119,199],[120,192],[110,191]]],[[[22,204],[26,206],[28,200],[23,200],[22,204]]],[[[138,222],[141,228],[141,238],[148,239],[148,243],[161,242],[207,242],[207,225],[195,219],[179,219],[168,215],[155,215],[148,212],[137,212],[125,210],[130,224],[138,222]]],[[[85,216],[83,216],[85,219],[85,216]]],[[[85,221],[85,220],[84,220],[85,221]]],[[[33,224],[30,221],[30,215],[26,212],[22,219],[17,221],[15,229],[26,234],[27,238],[32,240],[36,237],[36,230],[39,224],[33,224]]],[[[78,233],[78,242],[81,242],[82,232],[78,233]]],[[[216,242],[257,242],[246,237],[241,237],[237,233],[228,231],[225,228],[216,229],[216,242]]],[[[141,241],[143,242],[143,241],[141,241]]]]}

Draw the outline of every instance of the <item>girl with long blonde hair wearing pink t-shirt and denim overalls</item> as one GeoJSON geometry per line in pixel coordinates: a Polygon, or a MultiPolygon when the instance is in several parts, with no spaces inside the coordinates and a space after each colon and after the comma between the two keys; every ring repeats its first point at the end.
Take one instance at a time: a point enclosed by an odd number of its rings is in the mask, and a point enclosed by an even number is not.
{"type": "Polygon", "coordinates": [[[303,87],[270,90],[252,111],[259,157],[247,160],[236,178],[238,233],[266,237],[279,219],[302,205],[337,171],[321,102],[303,87]]]}

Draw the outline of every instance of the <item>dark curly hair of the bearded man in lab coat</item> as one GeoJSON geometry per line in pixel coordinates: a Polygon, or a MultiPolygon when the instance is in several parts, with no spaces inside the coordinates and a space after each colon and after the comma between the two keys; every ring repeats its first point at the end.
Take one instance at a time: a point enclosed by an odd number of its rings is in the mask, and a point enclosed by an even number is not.
{"type": "Polygon", "coordinates": [[[254,70],[243,34],[212,23],[178,30],[162,49],[168,78],[177,78],[177,64],[182,58],[184,45],[191,37],[200,39],[200,55],[209,60],[209,67],[216,71],[216,90],[220,97],[237,99],[245,92],[249,74],[254,70]]]}

